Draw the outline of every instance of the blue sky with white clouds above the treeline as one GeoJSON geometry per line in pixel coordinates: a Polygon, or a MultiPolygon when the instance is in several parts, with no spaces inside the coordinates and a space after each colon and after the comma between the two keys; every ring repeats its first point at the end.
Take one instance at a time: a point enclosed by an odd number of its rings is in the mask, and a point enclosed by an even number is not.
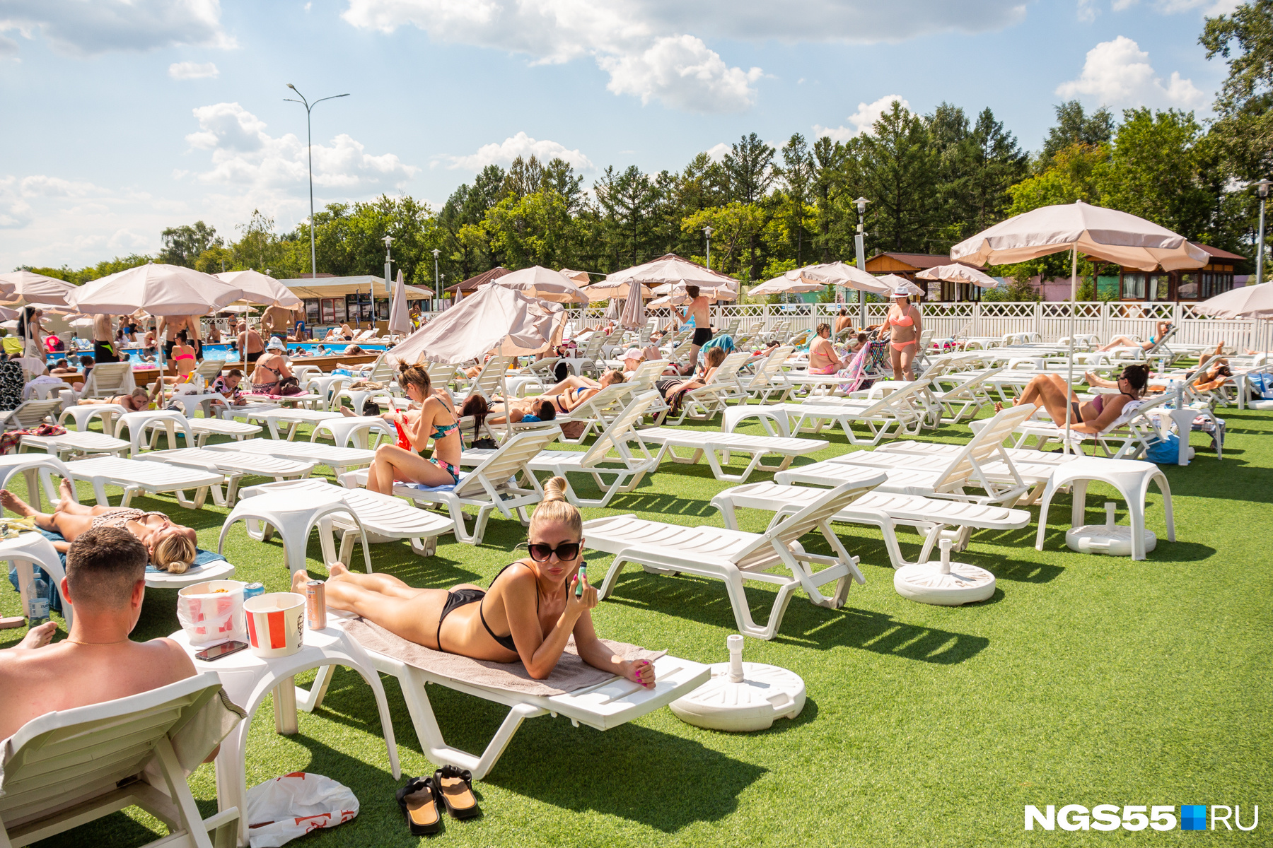
{"type": "Polygon", "coordinates": [[[1053,106],[1209,116],[1198,46],[1234,0],[0,0],[0,270],[153,252],[253,209],[409,193],[560,155],[679,169],[746,132],[836,137],[894,97],[989,106],[1036,150],[1053,106]]]}

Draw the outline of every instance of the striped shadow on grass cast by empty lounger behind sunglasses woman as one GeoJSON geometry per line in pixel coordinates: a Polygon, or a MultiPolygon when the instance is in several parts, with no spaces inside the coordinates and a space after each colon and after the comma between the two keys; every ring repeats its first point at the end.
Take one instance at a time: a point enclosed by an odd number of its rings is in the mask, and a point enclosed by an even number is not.
{"type": "MultiPolygon", "coordinates": [[[[752,586],[746,591],[752,619],[765,623],[774,592],[752,586]]],[[[606,599],[607,604],[677,615],[723,629],[736,627],[724,585],[715,580],[685,575],[668,578],[633,571],[620,578],[615,592],[606,599]]],[[[852,591],[848,603],[853,603],[852,591]]],[[[980,636],[908,624],[885,613],[815,606],[803,595],[792,598],[774,642],[816,648],[854,647],[938,665],[962,662],[989,645],[989,639],[980,636]]]]}

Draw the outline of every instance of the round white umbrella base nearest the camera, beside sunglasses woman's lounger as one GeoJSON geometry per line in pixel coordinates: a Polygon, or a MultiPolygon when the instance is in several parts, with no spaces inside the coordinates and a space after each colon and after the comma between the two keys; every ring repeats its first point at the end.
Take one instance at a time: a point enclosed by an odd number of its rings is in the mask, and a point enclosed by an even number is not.
{"type": "MultiPolygon", "coordinates": [[[[741,637],[738,637],[741,638],[741,637]]],[[[712,679],[668,704],[695,727],[750,732],[768,730],[775,718],[794,718],[805,708],[805,680],[764,662],[743,662],[742,681],[729,680],[729,662],[712,666],[712,679]]]]}

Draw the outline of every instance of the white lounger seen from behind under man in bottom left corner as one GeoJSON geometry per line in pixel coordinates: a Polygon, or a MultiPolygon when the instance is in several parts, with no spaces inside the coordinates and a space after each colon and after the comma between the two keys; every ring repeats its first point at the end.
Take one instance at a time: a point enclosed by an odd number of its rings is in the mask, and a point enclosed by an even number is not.
{"type": "Polygon", "coordinates": [[[220,689],[206,673],[28,721],[0,750],[0,845],[27,845],[139,806],[169,829],[148,848],[230,848],[238,807],[204,819],[186,783],[242,718],[223,706],[220,689]]]}

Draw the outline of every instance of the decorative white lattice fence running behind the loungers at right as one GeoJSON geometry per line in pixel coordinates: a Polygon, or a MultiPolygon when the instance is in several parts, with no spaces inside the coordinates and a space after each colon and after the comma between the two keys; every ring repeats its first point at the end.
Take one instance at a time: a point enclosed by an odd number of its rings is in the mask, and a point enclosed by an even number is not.
{"type": "MultiPolygon", "coordinates": [[[[771,329],[778,322],[791,322],[791,329],[812,329],[820,323],[833,323],[840,309],[858,314],[857,304],[750,304],[741,306],[713,306],[712,323],[724,327],[738,318],[742,329],[763,322],[771,329]]],[[[605,306],[573,309],[577,328],[605,324],[605,306]]],[[[867,325],[883,323],[889,304],[867,304],[867,325]]],[[[1071,332],[1071,304],[1068,301],[1023,303],[933,303],[922,304],[925,329],[937,337],[1002,337],[1007,333],[1039,333],[1044,341],[1054,342],[1071,332]]],[[[667,309],[651,310],[649,315],[663,327],[672,322],[667,309]]],[[[1200,315],[1189,303],[1119,303],[1080,301],[1074,304],[1073,331],[1096,336],[1108,342],[1116,336],[1148,339],[1157,333],[1158,322],[1171,322],[1176,327],[1175,341],[1181,345],[1216,345],[1225,342],[1237,347],[1267,350],[1270,322],[1255,319],[1226,319],[1200,315]]],[[[854,320],[854,323],[857,323],[854,320]]]]}

